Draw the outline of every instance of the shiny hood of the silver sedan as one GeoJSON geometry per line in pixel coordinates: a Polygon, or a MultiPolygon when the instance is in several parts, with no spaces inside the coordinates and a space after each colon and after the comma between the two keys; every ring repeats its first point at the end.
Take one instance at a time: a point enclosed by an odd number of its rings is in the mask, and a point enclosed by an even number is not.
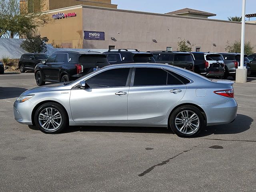
{"type": "Polygon", "coordinates": [[[49,84],[45,86],[32,88],[30,90],[23,92],[21,95],[29,95],[29,94],[40,93],[40,92],[48,92],[48,91],[62,91],[62,90],[70,90],[70,89],[71,89],[70,85],[64,85],[64,83],[56,83],[56,84],[49,84]]]}

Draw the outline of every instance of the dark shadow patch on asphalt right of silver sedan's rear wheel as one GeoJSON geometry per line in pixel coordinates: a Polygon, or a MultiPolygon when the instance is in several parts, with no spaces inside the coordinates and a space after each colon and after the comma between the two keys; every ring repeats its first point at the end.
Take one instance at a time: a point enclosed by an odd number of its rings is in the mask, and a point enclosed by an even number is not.
{"type": "Polygon", "coordinates": [[[197,137],[209,136],[212,134],[238,134],[250,129],[253,119],[249,116],[237,114],[234,122],[225,125],[208,126],[206,130],[202,131],[197,137]]]}

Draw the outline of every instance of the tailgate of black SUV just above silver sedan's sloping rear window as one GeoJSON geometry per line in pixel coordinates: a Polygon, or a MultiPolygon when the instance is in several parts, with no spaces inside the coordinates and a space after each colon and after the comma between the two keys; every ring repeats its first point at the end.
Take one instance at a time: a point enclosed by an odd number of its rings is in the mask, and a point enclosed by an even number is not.
{"type": "Polygon", "coordinates": [[[174,54],[174,66],[184,68],[187,70],[193,70],[194,61],[191,54],[174,54]]]}

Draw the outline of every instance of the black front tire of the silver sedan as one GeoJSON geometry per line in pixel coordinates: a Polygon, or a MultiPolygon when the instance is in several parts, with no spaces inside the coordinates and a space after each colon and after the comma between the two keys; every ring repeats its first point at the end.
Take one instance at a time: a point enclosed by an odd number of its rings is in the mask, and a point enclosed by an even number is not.
{"type": "Polygon", "coordinates": [[[62,132],[64,128],[68,126],[68,115],[66,114],[66,111],[62,105],[57,103],[45,103],[36,110],[34,122],[36,127],[42,132],[47,134],[56,134],[62,132]],[[49,108],[52,108],[52,114],[50,113],[49,108]],[[48,110],[49,113],[47,113],[46,110],[48,110]],[[46,118],[45,120],[39,120],[39,115],[41,113],[43,113],[44,116],[41,115],[40,117],[46,118]],[[55,117],[59,117],[58,113],[60,114],[60,119],[54,119],[54,114],[57,114],[55,117]],[[59,125],[58,127],[56,126],[57,128],[55,128],[54,124],[59,125]]]}

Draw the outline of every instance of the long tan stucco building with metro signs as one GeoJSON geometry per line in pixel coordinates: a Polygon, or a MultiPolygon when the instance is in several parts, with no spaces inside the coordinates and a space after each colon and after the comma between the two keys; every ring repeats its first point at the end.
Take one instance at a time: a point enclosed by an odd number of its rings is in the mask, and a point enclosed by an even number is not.
{"type": "MultiPolygon", "coordinates": [[[[193,51],[224,52],[227,41],[240,40],[240,22],[195,17],[191,13],[181,16],[120,10],[111,0],[48,1],[49,10],[44,14],[50,22],[38,33],[47,36],[55,47],[176,50],[177,42],[185,39],[193,45],[193,51]]],[[[255,34],[256,24],[246,23],[246,41],[256,45],[255,34]]]]}

